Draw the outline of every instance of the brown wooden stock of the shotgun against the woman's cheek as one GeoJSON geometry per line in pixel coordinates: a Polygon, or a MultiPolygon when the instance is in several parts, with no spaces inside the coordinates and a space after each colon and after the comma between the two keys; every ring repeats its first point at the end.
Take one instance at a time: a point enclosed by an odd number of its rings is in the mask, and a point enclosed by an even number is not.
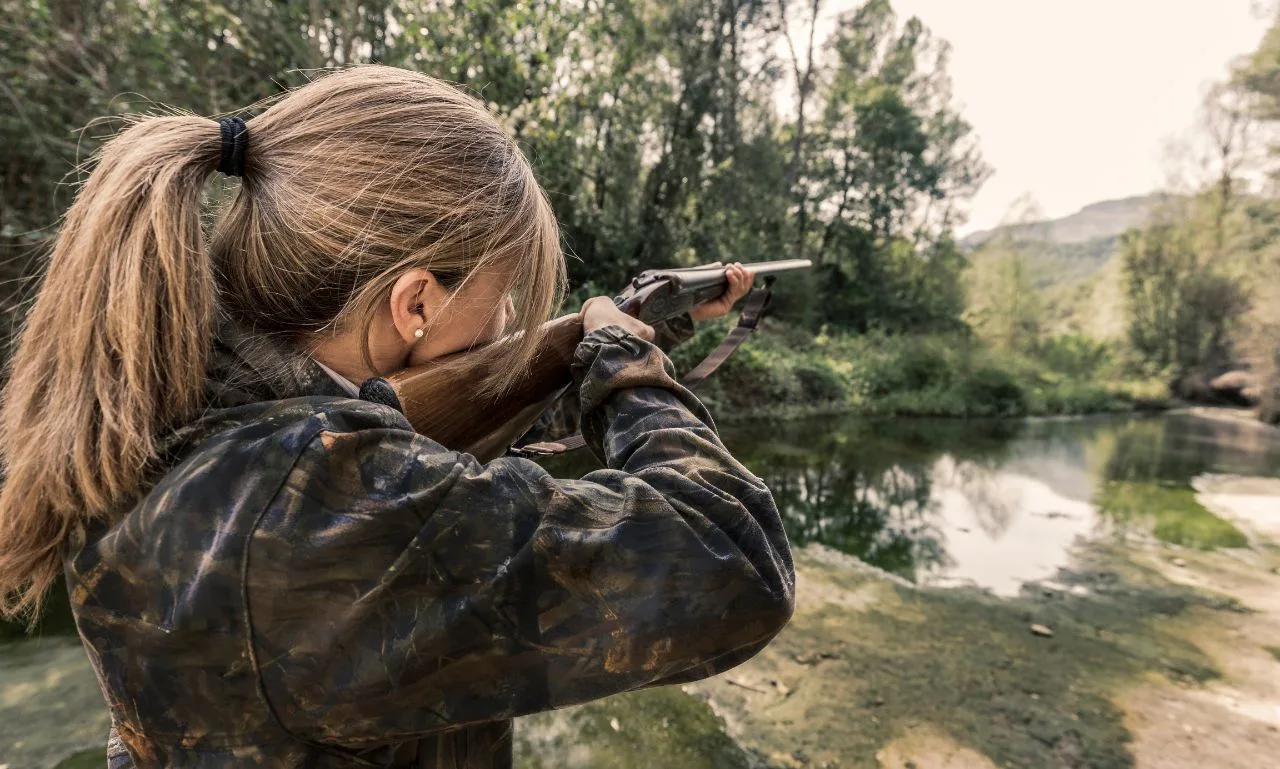
{"type": "Polygon", "coordinates": [[[543,324],[527,375],[497,399],[475,395],[472,384],[489,371],[476,365],[474,351],[370,379],[361,385],[360,397],[398,408],[415,431],[447,448],[493,459],[506,453],[572,384],[570,363],[581,340],[582,317],[577,313],[543,324]]]}

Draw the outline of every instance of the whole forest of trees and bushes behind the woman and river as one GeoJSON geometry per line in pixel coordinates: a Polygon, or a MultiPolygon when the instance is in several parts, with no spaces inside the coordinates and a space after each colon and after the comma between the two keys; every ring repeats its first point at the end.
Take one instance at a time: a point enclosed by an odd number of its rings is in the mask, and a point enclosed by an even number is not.
{"type": "Polygon", "coordinates": [[[1047,255],[1019,228],[977,247],[956,237],[991,169],[952,96],[948,44],[890,0],[838,15],[822,40],[823,0],[0,0],[0,12],[5,338],[122,115],[251,116],[328,68],[376,61],[451,81],[502,118],[556,207],[571,305],[643,269],[814,261],[778,281],[763,333],[703,392],[730,418],[1158,408],[1221,400],[1211,383],[1230,372],[1247,380],[1230,397],[1280,417],[1280,201],[1267,193],[1280,28],[1206,101],[1198,177],[1100,256],[1047,255]],[[1037,281],[1046,264],[1074,276],[1089,258],[1116,265],[1119,331],[1071,322],[1097,299],[1093,273],[1066,298],[1053,293],[1061,274],[1037,281]]]}

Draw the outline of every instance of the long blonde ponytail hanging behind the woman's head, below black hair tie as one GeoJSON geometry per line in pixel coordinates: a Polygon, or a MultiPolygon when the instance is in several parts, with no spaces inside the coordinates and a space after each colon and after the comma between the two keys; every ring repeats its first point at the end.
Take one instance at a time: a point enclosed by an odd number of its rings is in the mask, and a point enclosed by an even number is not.
{"type": "Polygon", "coordinates": [[[136,495],[157,435],[200,407],[220,146],[212,120],[137,120],[64,218],[0,393],[0,615],[38,613],[67,540],[136,495]]]}

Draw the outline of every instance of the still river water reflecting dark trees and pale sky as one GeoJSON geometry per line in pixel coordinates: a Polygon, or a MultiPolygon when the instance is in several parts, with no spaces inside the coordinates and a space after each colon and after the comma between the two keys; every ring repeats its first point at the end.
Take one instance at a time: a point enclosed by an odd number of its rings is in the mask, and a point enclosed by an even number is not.
{"type": "MultiPolygon", "coordinates": [[[[723,430],[768,482],[796,546],[817,541],[895,575],[1000,595],[1066,566],[1100,527],[1107,481],[1187,485],[1272,475],[1274,429],[1197,415],[960,421],[824,418],[723,430]]],[[[548,462],[595,467],[586,453],[548,462]]]]}

